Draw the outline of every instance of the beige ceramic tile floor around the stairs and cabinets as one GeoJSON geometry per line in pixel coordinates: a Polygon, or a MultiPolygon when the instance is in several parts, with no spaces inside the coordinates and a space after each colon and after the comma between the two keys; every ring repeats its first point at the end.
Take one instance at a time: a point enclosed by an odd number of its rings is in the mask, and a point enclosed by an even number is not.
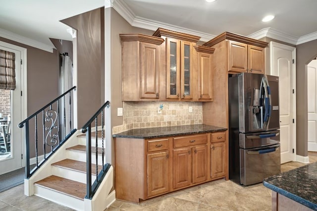
{"type": "MultiPolygon", "coordinates": [[[[309,152],[311,163],[317,162],[317,152],[309,152]]],[[[282,171],[305,164],[289,162],[282,171]]],[[[262,183],[247,187],[230,180],[219,179],[195,187],[156,197],[140,205],[115,201],[106,211],[270,211],[271,190],[262,183]]],[[[24,185],[0,193],[0,211],[71,211],[37,196],[24,195],[24,185]]]]}

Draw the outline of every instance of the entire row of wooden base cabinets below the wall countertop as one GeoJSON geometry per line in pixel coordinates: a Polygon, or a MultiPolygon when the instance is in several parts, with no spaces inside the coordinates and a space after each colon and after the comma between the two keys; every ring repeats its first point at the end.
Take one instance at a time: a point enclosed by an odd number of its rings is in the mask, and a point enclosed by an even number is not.
{"type": "Polygon", "coordinates": [[[227,179],[225,134],[226,131],[155,139],[116,137],[116,198],[139,203],[213,179],[227,179]]]}

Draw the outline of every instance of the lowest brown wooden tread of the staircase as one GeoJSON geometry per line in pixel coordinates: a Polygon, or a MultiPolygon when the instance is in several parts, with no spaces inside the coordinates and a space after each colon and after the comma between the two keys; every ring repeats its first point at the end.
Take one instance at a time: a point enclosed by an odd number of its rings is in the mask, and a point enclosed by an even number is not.
{"type": "Polygon", "coordinates": [[[80,200],[84,200],[86,196],[86,184],[55,175],[37,181],[34,185],[42,186],[80,200]]]}

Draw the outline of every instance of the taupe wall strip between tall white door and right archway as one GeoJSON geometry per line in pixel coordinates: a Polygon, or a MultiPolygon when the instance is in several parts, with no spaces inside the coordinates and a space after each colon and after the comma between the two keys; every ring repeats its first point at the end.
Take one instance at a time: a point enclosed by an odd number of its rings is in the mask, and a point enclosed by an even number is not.
{"type": "Polygon", "coordinates": [[[317,56],[317,40],[296,45],[296,154],[307,153],[307,65],[317,56]]]}

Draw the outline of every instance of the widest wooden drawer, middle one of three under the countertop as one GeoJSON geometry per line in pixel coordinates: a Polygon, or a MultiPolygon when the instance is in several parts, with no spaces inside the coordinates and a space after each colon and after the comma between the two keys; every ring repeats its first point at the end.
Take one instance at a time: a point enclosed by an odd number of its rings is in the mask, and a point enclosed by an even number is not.
{"type": "Polygon", "coordinates": [[[208,133],[173,138],[174,148],[193,146],[193,145],[199,145],[199,144],[207,144],[207,141],[208,141],[208,133]]]}

